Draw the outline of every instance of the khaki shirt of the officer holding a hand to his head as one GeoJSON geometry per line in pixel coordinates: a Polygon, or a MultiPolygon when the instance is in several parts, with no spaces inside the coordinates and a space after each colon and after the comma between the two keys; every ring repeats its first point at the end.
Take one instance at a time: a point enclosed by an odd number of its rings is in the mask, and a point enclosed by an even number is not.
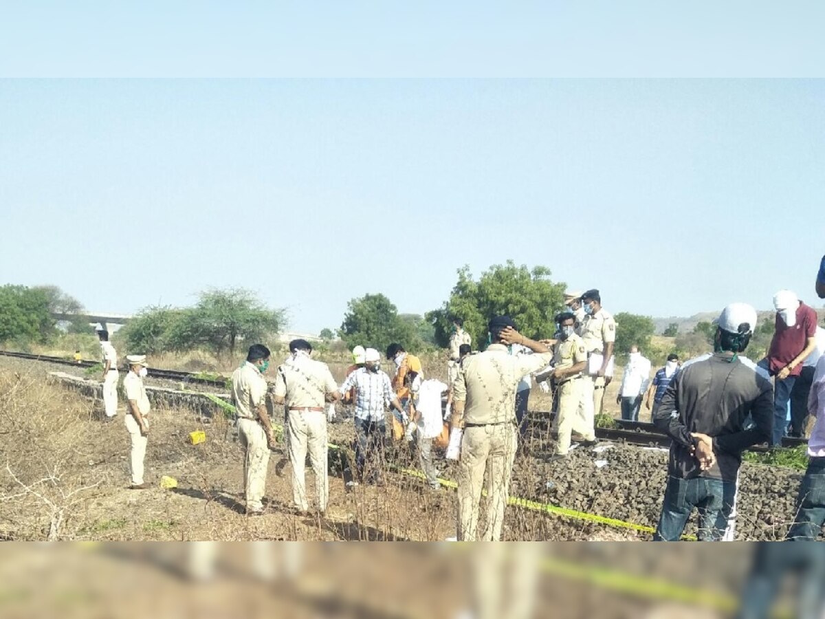
{"type": "Polygon", "coordinates": [[[453,398],[466,402],[466,423],[506,423],[516,419],[516,385],[522,376],[553,360],[551,352],[511,355],[503,344],[490,344],[477,355],[464,357],[453,383],[453,398]]]}

